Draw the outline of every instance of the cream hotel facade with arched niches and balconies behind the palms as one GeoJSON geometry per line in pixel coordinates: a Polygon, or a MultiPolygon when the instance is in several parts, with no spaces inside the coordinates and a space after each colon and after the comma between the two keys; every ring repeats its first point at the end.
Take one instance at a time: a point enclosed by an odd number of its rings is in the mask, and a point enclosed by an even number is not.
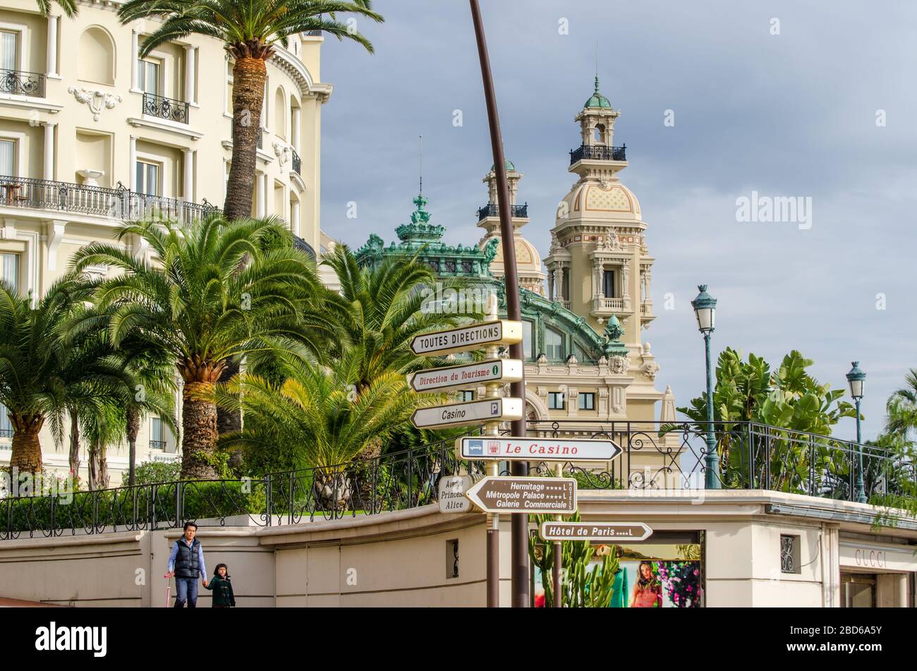
{"type": "MultiPolygon", "coordinates": [[[[116,241],[124,218],[188,222],[222,207],[232,154],[232,63],[214,38],[189,36],[138,59],[152,21],[121,25],[119,2],[79,2],[76,17],[34,0],[0,1],[0,277],[39,296],[74,252],[116,241]]],[[[268,61],[252,214],[276,215],[321,248],[320,79],[324,38],[301,35],[268,61]]],[[[99,276],[107,268],[92,269],[99,276]]],[[[12,428],[0,412],[0,464],[12,428]]],[[[42,432],[46,466],[66,469],[66,441],[42,432]]],[[[152,417],[138,463],[171,460],[177,438],[152,417]]],[[[109,448],[112,484],[127,446],[109,448]]],[[[83,459],[83,464],[87,463],[83,459]]]]}

